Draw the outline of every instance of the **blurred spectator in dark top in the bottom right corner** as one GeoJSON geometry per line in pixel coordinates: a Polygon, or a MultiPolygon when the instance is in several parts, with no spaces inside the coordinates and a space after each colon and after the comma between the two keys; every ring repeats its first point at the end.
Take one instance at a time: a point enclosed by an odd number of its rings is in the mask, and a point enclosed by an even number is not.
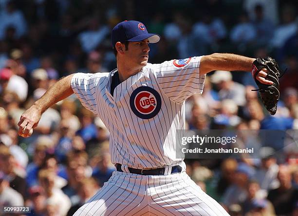
{"type": "Polygon", "coordinates": [[[278,180],[280,186],[268,193],[277,215],[290,215],[298,200],[298,190],[291,182],[291,172],[288,165],[279,165],[278,180]]]}

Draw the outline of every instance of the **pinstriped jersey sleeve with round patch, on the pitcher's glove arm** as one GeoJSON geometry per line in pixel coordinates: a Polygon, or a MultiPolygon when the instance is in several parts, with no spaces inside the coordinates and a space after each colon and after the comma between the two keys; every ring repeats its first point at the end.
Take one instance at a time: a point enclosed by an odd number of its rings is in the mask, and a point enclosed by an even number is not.
{"type": "Polygon", "coordinates": [[[200,74],[202,56],[165,61],[154,65],[157,82],[170,100],[183,103],[194,93],[202,93],[206,74],[200,74]]]}

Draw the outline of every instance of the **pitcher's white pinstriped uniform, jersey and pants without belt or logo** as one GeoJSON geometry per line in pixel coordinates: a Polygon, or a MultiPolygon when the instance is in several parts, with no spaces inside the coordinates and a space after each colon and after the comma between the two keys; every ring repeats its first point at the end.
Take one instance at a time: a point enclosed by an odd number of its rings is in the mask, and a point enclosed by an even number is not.
{"type": "MultiPolygon", "coordinates": [[[[202,93],[205,75],[200,75],[201,57],[192,57],[184,67],[173,61],[148,64],[119,84],[111,95],[110,73],[77,73],[72,89],[82,105],[98,115],[110,130],[112,163],[124,172],[113,172],[104,186],[75,216],[221,216],[223,208],[208,197],[185,173],[183,159],[176,158],[177,129],[185,128],[185,100],[202,93]],[[153,89],[161,103],[153,117],[143,118],[131,108],[135,90],[153,89]],[[140,88],[140,89],[138,89],[140,88]],[[173,165],[183,172],[170,174],[173,165]],[[164,176],[130,174],[128,167],[166,167],[164,176]]],[[[139,91],[135,91],[139,92],[139,91]]],[[[156,99],[156,98],[155,98],[156,99]]],[[[134,105],[136,106],[136,105],[134,105]]],[[[156,105],[154,105],[156,106],[156,105]]],[[[146,114],[146,113],[145,113],[146,114]]]]}

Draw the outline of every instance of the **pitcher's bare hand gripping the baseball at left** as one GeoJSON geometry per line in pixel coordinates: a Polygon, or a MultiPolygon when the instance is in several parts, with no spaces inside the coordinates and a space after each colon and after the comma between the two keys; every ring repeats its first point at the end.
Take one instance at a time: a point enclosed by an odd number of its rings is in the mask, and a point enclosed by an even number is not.
{"type": "Polygon", "coordinates": [[[30,137],[33,132],[31,129],[38,125],[40,117],[41,117],[41,111],[36,107],[36,105],[33,105],[29,109],[27,109],[21,115],[18,123],[19,136],[22,136],[25,138],[30,137]]]}

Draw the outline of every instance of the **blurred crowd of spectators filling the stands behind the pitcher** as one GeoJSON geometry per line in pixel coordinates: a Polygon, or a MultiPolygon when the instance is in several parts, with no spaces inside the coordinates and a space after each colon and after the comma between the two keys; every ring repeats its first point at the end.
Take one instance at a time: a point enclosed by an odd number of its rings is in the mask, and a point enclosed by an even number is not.
{"type": "MultiPolygon", "coordinates": [[[[109,132],[74,95],[49,108],[30,138],[18,136],[17,123],[60,77],[114,69],[110,32],[125,19],[140,20],[162,36],[150,45],[150,63],[226,52],[269,55],[287,68],[275,116],[251,91],[257,87],[249,72],[209,73],[203,94],[186,102],[186,128],[277,129],[295,135],[294,2],[0,0],[0,206],[31,206],[28,216],[72,215],[110,178],[115,168],[109,132]]],[[[298,216],[297,156],[297,143],[284,146],[271,139],[258,159],[186,160],[186,172],[232,216],[298,216]]]]}

